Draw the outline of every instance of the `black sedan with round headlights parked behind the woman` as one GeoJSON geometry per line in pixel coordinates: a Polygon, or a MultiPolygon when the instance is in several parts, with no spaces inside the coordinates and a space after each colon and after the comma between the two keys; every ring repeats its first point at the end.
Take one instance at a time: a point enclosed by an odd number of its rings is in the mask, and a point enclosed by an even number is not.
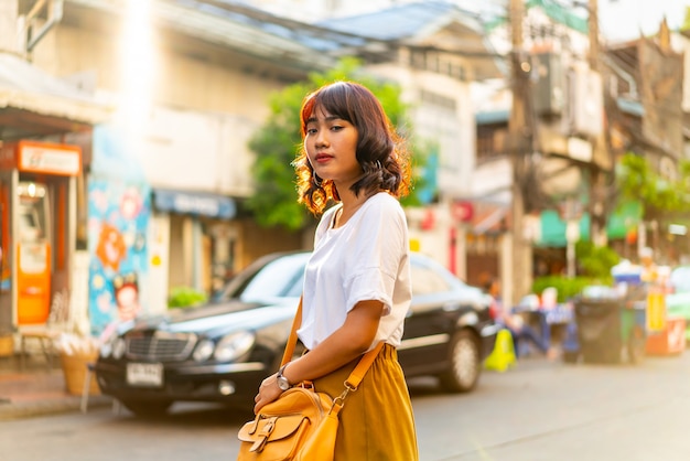
{"type": "MultiPolygon", "coordinates": [[[[176,400],[251,405],[278,369],[308,258],[262,257],[207,305],[118,325],[95,365],[103,394],[142,416],[176,400]]],[[[406,376],[434,375],[450,392],[472,390],[497,332],[490,298],[420,254],[411,268],[413,299],[399,349],[406,376]]]]}

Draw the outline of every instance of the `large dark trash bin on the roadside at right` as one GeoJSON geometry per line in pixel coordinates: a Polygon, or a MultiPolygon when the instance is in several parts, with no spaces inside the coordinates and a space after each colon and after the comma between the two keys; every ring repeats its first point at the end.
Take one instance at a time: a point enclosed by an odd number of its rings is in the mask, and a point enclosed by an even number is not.
{"type": "Polygon", "coordinates": [[[575,302],[580,353],[585,363],[638,363],[645,354],[645,310],[624,299],[575,302]]]}

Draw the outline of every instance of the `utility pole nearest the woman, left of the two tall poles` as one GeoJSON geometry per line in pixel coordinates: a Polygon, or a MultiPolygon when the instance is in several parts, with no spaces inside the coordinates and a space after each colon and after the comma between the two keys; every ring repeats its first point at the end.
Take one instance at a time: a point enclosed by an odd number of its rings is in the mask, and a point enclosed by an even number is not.
{"type": "MultiPolygon", "coordinates": [[[[506,301],[516,305],[530,291],[532,279],[531,243],[525,240],[525,197],[522,182],[525,178],[525,156],[527,124],[525,118],[526,88],[528,84],[529,61],[522,50],[524,0],[510,0],[510,34],[513,43],[511,87],[513,107],[508,120],[509,153],[513,164],[513,236],[511,236],[511,283],[506,301]],[[509,296],[509,298],[508,298],[509,296]]],[[[531,153],[531,152],[529,152],[531,153]]],[[[535,185],[536,186],[536,185],[535,185]]]]}

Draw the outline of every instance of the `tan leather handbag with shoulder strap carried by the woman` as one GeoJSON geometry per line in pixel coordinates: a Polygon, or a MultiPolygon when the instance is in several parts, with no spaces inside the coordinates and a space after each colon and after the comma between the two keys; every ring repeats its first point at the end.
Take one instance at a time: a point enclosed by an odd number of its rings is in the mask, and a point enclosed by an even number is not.
{"type": "MultiPolygon", "coordinates": [[[[302,300],[292,322],[281,366],[290,362],[297,344],[297,331],[302,321],[302,300]]],[[[362,360],[345,380],[345,389],[336,398],[314,390],[311,383],[302,383],[266,405],[251,421],[239,430],[237,461],[332,461],[338,414],[345,398],[364,378],[384,346],[381,341],[362,360]]]]}

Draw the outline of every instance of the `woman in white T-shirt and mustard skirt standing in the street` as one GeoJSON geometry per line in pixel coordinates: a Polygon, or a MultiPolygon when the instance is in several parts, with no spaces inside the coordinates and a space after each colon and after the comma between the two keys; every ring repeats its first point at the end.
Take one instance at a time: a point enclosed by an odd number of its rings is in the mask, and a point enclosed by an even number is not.
{"type": "Polygon", "coordinates": [[[360,356],[384,341],[339,414],[334,459],[417,460],[397,355],[411,300],[408,228],[398,201],[409,189],[408,151],[379,100],[353,82],[308,95],[301,130],[298,200],[321,215],[298,331],[308,352],[262,382],[255,411],[282,393],[279,380],[283,388],[312,380],[316,392],[339,395],[360,356]]]}

